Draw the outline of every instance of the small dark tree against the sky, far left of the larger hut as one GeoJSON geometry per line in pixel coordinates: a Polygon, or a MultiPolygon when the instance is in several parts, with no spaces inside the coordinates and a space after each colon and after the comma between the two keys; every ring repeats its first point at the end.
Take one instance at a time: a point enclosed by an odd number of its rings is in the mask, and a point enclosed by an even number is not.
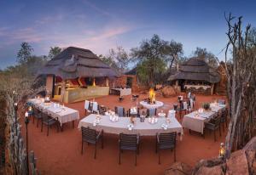
{"type": "Polygon", "coordinates": [[[17,54],[17,62],[20,63],[20,64],[23,64],[27,61],[27,59],[29,57],[32,56],[32,51],[33,51],[33,48],[31,45],[29,45],[28,42],[22,42],[20,44],[20,50],[18,51],[18,54],[17,54]]]}

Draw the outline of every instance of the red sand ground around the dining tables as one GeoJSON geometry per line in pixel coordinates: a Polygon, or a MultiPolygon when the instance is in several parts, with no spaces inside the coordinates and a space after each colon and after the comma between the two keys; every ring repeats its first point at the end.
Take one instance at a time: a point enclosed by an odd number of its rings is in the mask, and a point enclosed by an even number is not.
{"type": "MultiPolygon", "coordinates": [[[[139,99],[146,98],[140,95],[139,99]]],[[[220,99],[220,96],[196,96],[196,108],[202,102],[210,102],[213,99],[220,99]]],[[[169,110],[177,102],[175,98],[157,98],[165,103],[163,110],[169,110]]],[[[113,109],[115,105],[131,108],[136,103],[131,102],[131,96],[125,96],[123,102],[118,101],[118,96],[109,95],[96,99],[99,104],[113,109]]],[[[139,101],[139,100],[138,100],[139,101]]],[[[79,110],[80,119],[84,118],[84,103],[67,104],[68,107],[79,110]]],[[[179,120],[179,116],[177,115],[179,120]]],[[[20,121],[24,122],[24,121],[20,121]]],[[[38,170],[42,174],[163,174],[165,169],[173,163],[173,153],[170,150],[163,150],[161,154],[161,165],[158,164],[158,155],[155,154],[155,138],[141,138],[142,149],[137,157],[137,167],[134,166],[134,153],[124,151],[121,155],[121,165],[119,165],[118,136],[105,133],[104,149],[100,145],[97,148],[97,157],[94,159],[94,146],[85,145],[84,155],[81,155],[81,133],[77,128],[79,121],[64,125],[64,131],[57,133],[55,127],[49,129],[49,137],[46,136],[46,128],[41,133],[40,127],[36,127],[36,122],[32,121],[28,126],[28,147],[34,150],[38,157],[38,170]]],[[[24,126],[24,124],[23,124],[24,126]]],[[[39,125],[40,126],[40,125],[39,125]]],[[[202,138],[199,133],[191,133],[184,129],[183,140],[177,141],[177,161],[183,161],[191,166],[201,159],[218,156],[219,144],[224,142],[227,129],[222,133],[222,137],[217,134],[217,141],[214,142],[213,134],[206,133],[202,138]]],[[[22,128],[25,135],[25,128],[22,128]]]]}

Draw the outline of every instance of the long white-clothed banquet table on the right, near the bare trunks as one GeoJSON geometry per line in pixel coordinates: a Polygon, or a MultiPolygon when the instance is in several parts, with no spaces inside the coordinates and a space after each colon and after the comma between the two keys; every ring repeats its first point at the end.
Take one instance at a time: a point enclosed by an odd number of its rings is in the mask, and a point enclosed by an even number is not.
{"type": "Polygon", "coordinates": [[[198,113],[198,116],[196,116],[196,111],[193,111],[183,116],[182,126],[192,131],[203,134],[205,126],[204,122],[209,121],[212,116],[216,115],[219,110],[224,110],[224,108],[225,104],[217,104],[215,107],[212,107],[212,110],[198,113]]]}

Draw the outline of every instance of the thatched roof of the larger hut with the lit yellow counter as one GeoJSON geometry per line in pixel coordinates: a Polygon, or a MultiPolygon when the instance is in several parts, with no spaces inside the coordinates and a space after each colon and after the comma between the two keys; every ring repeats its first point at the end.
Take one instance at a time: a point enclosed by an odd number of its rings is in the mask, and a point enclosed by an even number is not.
{"type": "Polygon", "coordinates": [[[38,75],[55,75],[61,76],[62,79],[119,76],[90,50],[75,47],[66,48],[54,59],[49,60],[44,68],[38,71],[38,75]]]}

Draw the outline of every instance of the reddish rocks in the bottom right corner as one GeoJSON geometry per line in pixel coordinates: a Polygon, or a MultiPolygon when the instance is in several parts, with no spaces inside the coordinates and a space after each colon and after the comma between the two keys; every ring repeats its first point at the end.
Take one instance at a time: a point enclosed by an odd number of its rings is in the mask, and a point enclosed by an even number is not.
{"type": "Polygon", "coordinates": [[[236,150],[227,160],[213,158],[199,161],[195,167],[189,167],[182,162],[176,162],[166,169],[165,175],[231,175],[256,174],[256,137],[242,150],[236,150]]]}

